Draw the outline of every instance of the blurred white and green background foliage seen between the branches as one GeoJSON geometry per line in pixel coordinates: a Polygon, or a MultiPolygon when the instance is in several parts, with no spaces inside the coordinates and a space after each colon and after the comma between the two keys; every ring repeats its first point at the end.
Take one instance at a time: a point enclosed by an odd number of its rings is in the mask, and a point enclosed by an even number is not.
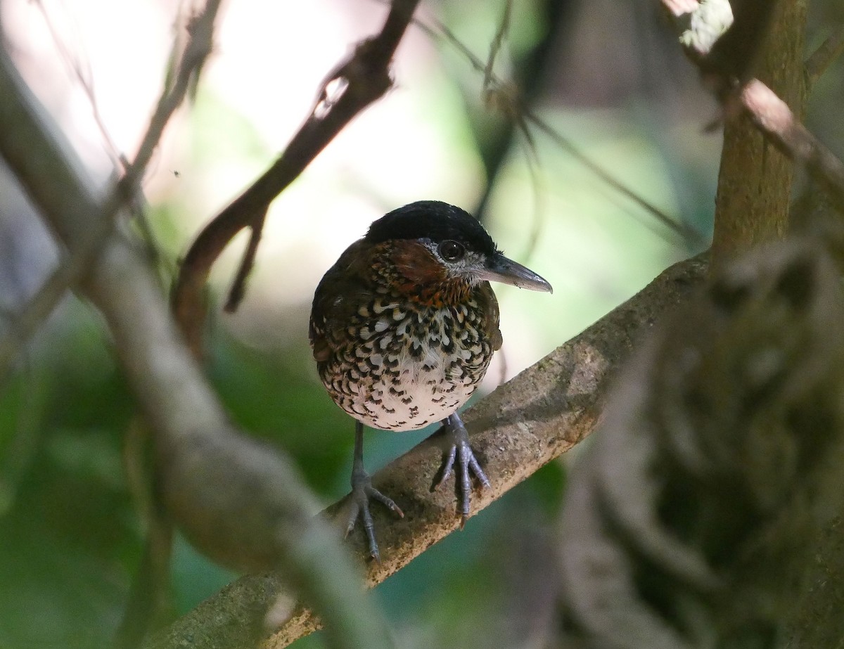
{"type": "MultiPolygon", "coordinates": [[[[485,61],[504,9],[440,0],[424,3],[419,19],[442,21],[485,61]]],[[[3,0],[0,11],[22,72],[105,182],[159,92],[172,3],[3,0]]],[[[383,14],[371,0],[230,3],[196,99],[172,122],[145,182],[163,289],[197,229],[273,160],[325,73],[383,14]]],[[[815,0],[809,42],[841,19],[841,3],[815,0]]],[[[657,222],[547,134],[531,128],[527,138],[511,113],[484,101],[484,74],[459,48],[412,30],[396,88],[273,203],[245,304],[234,316],[214,310],[208,325],[208,372],[232,418],[295,457],[326,504],[348,489],[353,426],[317,380],[307,314],[322,273],[373,219],[424,197],[460,204],[554,285],[549,297],[498,289],[506,342],[484,392],[710,236],[720,136],[703,126],[717,111],[657,3],[516,0],[510,22],[500,78],[700,241],[657,222]]],[[[827,73],[808,117],[839,155],[844,126],[831,107],[841,105],[841,72],[839,62],[827,73]]],[[[214,269],[213,300],[228,287],[232,248],[214,269]]],[[[0,170],[4,328],[56,261],[0,170]]],[[[106,646],[121,617],[143,529],[122,468],[135,406],[110,344],[95,311],[68,296],[0,377],[0,649],[106,646]]],[[[369,433],[369,467],[428,433],[369,433]]],[[[546,549],[564,485],[565,461],[550,464],[378,587],[403,646],[541,646],[554,598],[546,549]]],[[[178,540],[176,613],[234,576],[178,540]]],[[[296,646],[322,643],[317,634],[296,646]]]]}

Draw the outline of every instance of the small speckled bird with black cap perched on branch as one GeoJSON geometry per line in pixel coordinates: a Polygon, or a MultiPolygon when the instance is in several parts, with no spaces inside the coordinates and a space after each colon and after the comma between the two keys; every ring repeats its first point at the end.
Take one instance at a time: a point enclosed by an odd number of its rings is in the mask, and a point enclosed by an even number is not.
{"type": "Polygon", "coordinates": [[[376,561],[370,500],[403,512],[371,484],[364,426],[407,431],[442,423],[446,451],[434,487],[457,471],[462,525],[472,474],[490,486],[458,412],[501,347],[490,281],[552,292],[537,273],[505,257],[468,212],[426,200],[373,222],[317,285],[309,323],[317,373],[333,402],[355,419],[346,535],[361,519],[376,561]]]}

